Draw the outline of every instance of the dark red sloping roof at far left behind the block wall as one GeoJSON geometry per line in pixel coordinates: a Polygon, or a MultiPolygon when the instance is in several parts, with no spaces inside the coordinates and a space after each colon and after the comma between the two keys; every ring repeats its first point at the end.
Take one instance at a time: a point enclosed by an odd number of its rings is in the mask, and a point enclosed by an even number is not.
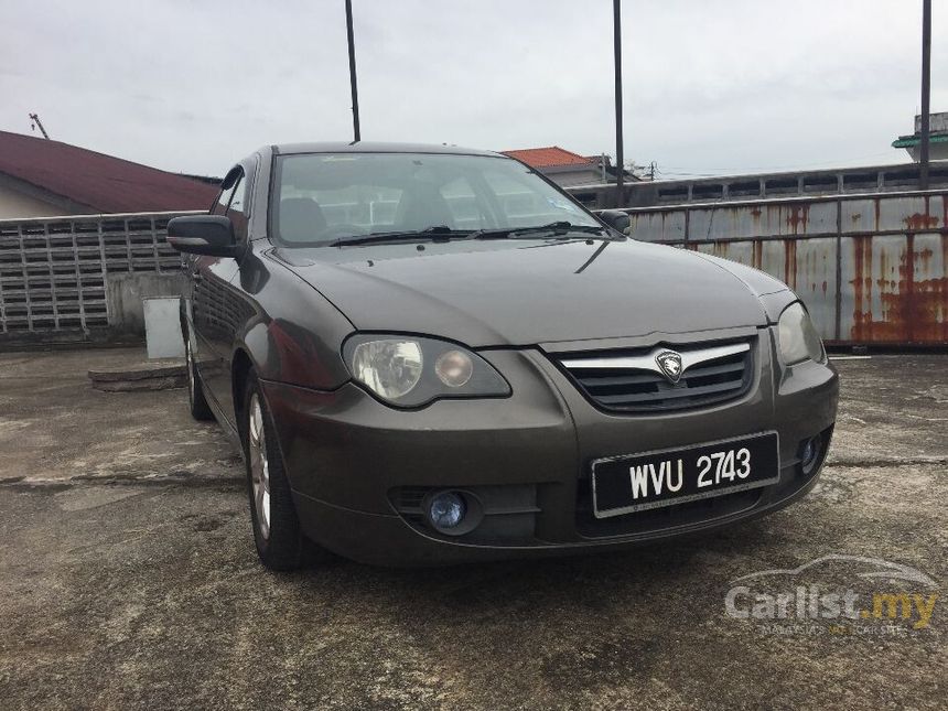
{"type": "Polygon", "coordinates": [[[0,173],[100,213],[207,209],[217,188],[77,146],[0,131],[0,173]]]}

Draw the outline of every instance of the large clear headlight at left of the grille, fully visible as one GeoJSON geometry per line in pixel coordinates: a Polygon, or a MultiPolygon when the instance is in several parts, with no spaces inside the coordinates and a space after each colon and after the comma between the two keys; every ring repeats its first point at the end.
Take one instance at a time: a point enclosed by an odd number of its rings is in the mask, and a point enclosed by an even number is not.
{"type": "Polygon", "coordinates": [[[343,358],[357,381],[398,407],[510,394],[507,381],[484,358],[435,338],[357,334],[343,346],[343,358]]]}

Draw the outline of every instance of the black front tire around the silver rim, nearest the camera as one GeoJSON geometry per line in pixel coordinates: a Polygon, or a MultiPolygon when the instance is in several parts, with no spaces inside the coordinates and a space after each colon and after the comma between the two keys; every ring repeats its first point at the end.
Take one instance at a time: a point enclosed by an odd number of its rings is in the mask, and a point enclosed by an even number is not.
{"type": "MultiPolygon", "coordinates": [[[[250,502],[250,523],[254,527],[254,541],[260,561],[270,570],[295,570],[326,553],[303,535],[297,507],[290,492],[290,482],[283,465],[283,457],[277,441],[277,430],[257,376],[251,370],[247,374],[247,386],[244,390],[243,407],[240,408],[240,438],[244,442],[244,461],[247,471],[247,495],[250,502]],[[257,424],[254,422],[256,407],[259,407],[262,423],[262,446],[259,437],[255,434],[257,424]],[[269,484],[269,518],[261,520],[261,507],[258,502],[258,489],[255,488],[255,467],[261,462],[257,459],[254,448],[266,452],[266,480],[269,484]]],[[[258,473],[259,476],[259,473],[258,473]]],[[[262,486],[262,482],[261,482],[262,486]]],[[[266,517],[266,515],[265,515],[266,517]]]]}

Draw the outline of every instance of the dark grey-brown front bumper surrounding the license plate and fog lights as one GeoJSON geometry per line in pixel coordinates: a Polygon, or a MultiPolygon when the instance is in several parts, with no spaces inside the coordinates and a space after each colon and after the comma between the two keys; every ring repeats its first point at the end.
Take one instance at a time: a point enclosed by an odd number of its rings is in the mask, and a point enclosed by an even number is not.
{"type": "Polygon", "coordinates": [[[772,330],[758,330],[754,344],[754,381],[743,396],[660,414],[603,412],[539,349],[481,352],[510,383],[504,399],[401,411],[352,383],[333,392],[278,383],[263,390],[301,524],[330,550],[390,565],[610,550],[763,515],[815,484],[819,467],[802,474],[799,444],[823,433],[828,446],[837,375],[811,362],[780,367],[772,330]],[[766,430],[779,433],[777,484],[611,519],[592,515],[592,460],[766,430]],[[474,492],[489,515],[470,534],[439,534],[413,513],[434,488],[474,492]]]}

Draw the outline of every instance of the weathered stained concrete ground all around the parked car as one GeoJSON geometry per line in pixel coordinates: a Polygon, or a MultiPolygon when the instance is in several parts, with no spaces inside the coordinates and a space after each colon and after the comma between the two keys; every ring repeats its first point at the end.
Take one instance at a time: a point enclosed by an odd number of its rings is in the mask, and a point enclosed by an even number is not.
{"type": "Polygon", "coordinates": [[[754,523],[623,554],[278,575],[256,560],[239,457],[184,391],[88,386],[139,355],[0,355],[2,709],[948,704],[945,601],[898,634],[724,606],[735,578],[827,554],[909,565],[944,594],[948,356],[839,360],[820,484],[754,523]]]}

